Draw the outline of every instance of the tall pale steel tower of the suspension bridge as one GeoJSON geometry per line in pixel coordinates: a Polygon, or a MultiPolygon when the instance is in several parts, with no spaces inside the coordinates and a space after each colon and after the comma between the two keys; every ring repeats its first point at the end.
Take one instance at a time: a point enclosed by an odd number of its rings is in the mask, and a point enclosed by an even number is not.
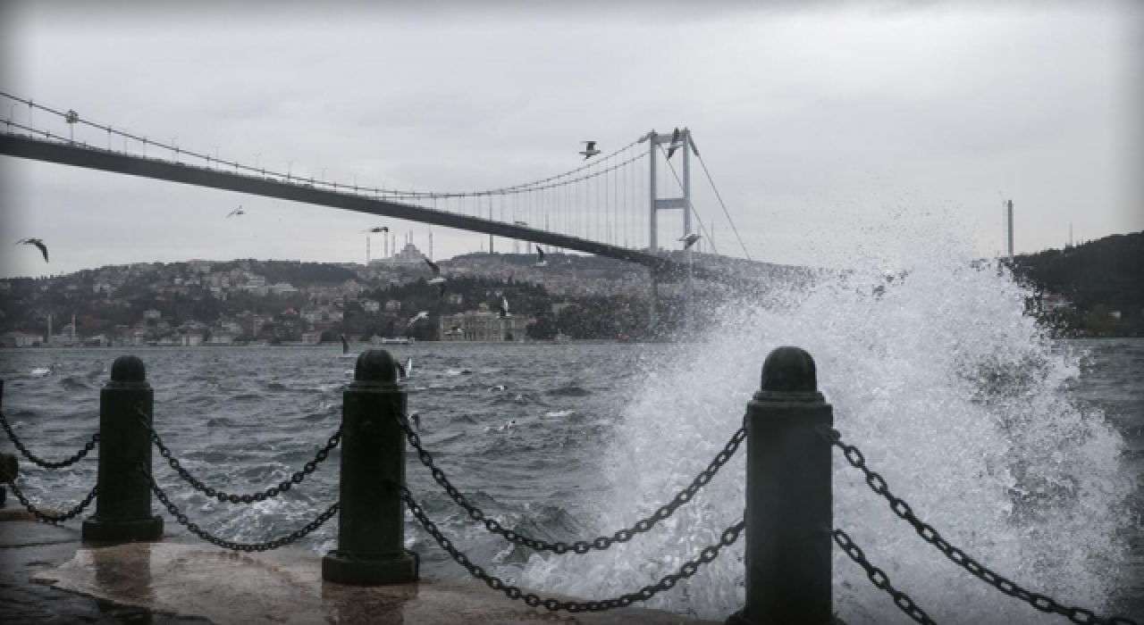
{"type": "MultiPolygon", "coordinates": [[[[651,230],[648,235],[649,241],[649,253],[653,255],[659,255],[659,211],[660,210],[683,210],[683,234],[686,237],[691,234],[691,152],[693,150],[691,145],[691,130],[684,128],[680,130],[678,136],[672,135],[660,135],[652,130],[648,133],[642,141],[648,142],[648,181],[651,198],[650,201],[650,226],[651,230]],[[674,143],[673,143],[674,139],[674,143]],[[680,171],[680,186],[683,190],[683,195],[678,198],[660,198],[657,190],[656,181],[656,163],[657,163],[657,152],[661,150],[661,145],[668,146],[668,154],[673,152],[682,152],[683,165],[680,171]]],[[[674,155],[674,154],[673,154],[674,155]]],[[[692,248],[694,246],[689,246],[684,251],[684,256],[688,263],[688,283],[686,283],[686,297],[684,301],[684,321],[686,330],[690,332],[694,322],[694,286],[691,277],[692,267],[692,248]]],[[[659,322],[657,305],[659,303],[659,283],[656,274],[651,277],[651,328],[654,329],[659,322]]]]}

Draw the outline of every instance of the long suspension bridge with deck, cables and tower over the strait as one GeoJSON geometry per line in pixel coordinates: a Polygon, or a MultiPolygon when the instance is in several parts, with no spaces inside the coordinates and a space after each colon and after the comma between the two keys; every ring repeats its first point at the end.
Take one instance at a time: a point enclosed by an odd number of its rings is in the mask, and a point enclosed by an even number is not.
{"type": "MultiPolygon", "coordinates": [[[[0,98],[9,103],[0,133],[0,154],[8,157],[353,210],[530,241],[549,251],[574,250],[636,263],[650,270],[653,298],[658,281],[686,281],[689,319],[692,278],[741,280],[725,269],[696,262],[696,249],[706,251],[706,257],[717,256],[718,250],[692,202],[692,158],[702,166],[737,238],[738,230],[688,129],[668,135],[652,130],[580,167],[527,183],[436,192],[302,177],[293,167],[285,173],[268,169],[257,162],[221,158],[217,149],[212,155],[180,147],[174,137],[149,139],[84,119],[73,110],[2,91],[0,98]],[[24,123],[14,119],[17,106],[26,106],[24,123]],[[678,168],[673,159],[682,161],[678,168]],[[669,233],[669,240],[699,235],[694,247],[683,250],[682,259],[661,245],[660,215],[673,213],[682,216],[676,219],[682,227],[669,233]]],[[[741,238],[738,242],[749,259],[741,238]]]]}

